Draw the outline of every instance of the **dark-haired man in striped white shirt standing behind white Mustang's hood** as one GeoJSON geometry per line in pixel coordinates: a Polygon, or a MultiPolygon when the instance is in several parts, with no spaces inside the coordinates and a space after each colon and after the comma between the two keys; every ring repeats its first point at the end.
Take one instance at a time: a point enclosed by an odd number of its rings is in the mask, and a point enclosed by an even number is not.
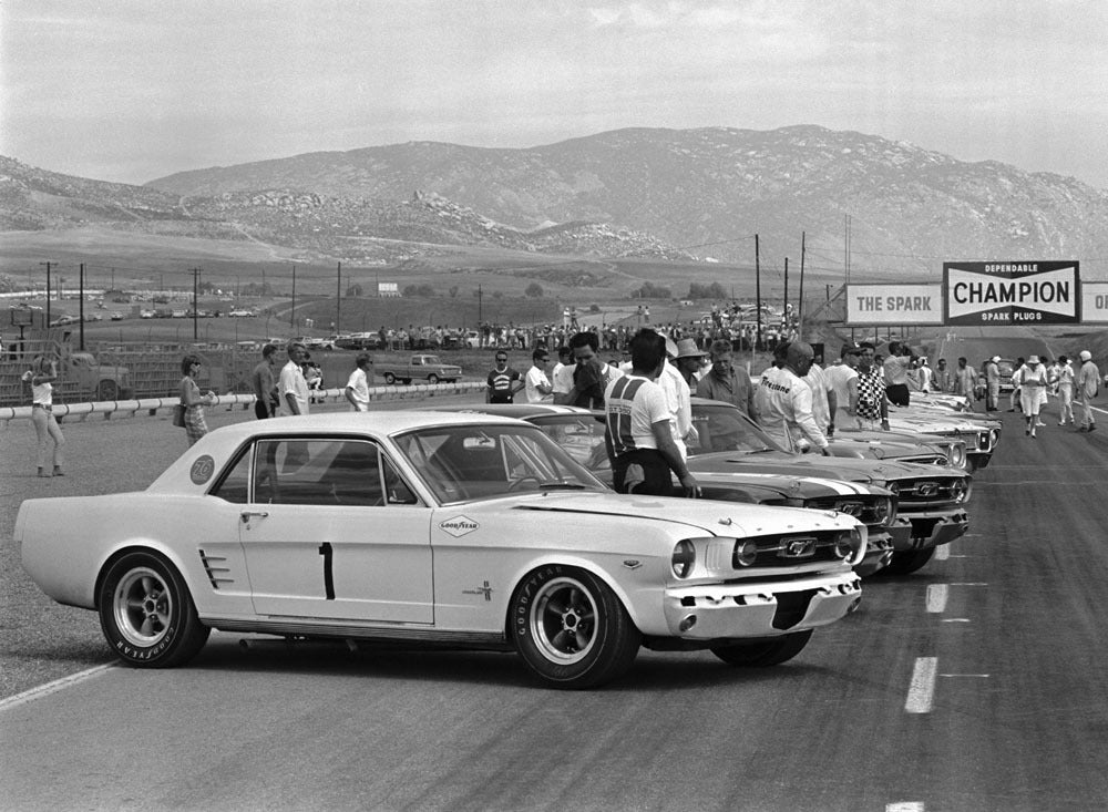
{"type": "Polygon", "coordinates": [[[673,472],[685,495],[695,497],[700,489],[674,444],[666,393],[656,382],[666,341],[654,330],[639,330],[630,340],[630,354],[632,373],[616,377],[604,391],[604,446],[613,485],[619,493],[670,496],[673,472]]]}

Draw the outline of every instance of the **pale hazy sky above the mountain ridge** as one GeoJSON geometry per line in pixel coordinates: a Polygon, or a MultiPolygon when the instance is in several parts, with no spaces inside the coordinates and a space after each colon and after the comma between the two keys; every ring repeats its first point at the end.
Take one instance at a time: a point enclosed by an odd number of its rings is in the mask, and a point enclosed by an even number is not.
{"type": "Polygon", "coordinates": [[[121,183],[819,124],[1108,188],[1106,102],[1104,0],[0,0],[0,154],[121,183]]]}

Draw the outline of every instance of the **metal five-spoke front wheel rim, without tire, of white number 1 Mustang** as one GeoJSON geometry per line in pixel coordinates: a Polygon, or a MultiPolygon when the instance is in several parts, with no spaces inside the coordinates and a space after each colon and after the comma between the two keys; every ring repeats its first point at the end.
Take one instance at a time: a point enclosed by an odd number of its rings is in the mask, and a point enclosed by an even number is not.
{"type": "Polygon", "coordinates": [[[581,582],[555,578],[531,605],[531,636],[552,662],[579,662],[596,643],[596,600],[581,582]]]}

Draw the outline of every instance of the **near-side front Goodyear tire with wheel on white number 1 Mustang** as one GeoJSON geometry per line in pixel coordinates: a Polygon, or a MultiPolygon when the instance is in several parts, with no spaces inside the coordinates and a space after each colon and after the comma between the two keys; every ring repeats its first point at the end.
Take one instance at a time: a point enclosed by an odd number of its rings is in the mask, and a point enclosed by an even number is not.
{"type": "Polygon", "coordinates": [[[577,567],[533,571],[512,596],[516,650],[553,688],[595,688],[622,676],[642,636],[612,589],[577,567]]]}

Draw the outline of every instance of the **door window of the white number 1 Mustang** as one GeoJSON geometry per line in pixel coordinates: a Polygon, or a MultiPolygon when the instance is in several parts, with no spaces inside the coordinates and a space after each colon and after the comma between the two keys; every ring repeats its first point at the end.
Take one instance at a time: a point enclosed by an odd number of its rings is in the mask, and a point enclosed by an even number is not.
{"type": "Polygon", "coordinates": [[[256,502],[383,505],[379,454],[363,440],[266,440],[254,470],[256,502]]]}

